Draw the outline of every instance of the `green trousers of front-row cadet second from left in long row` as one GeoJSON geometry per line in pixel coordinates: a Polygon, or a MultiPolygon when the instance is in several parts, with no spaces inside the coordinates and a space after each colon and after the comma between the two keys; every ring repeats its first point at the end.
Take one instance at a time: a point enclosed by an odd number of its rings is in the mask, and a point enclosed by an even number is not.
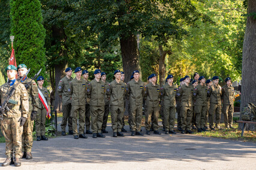
{"type": "Polygon", "coordinates": [[[72,105],[72,129],[73,135],[78,135],[78,117],[79,117],[79,135],[85,131],[85,105],[72,105]]]}

